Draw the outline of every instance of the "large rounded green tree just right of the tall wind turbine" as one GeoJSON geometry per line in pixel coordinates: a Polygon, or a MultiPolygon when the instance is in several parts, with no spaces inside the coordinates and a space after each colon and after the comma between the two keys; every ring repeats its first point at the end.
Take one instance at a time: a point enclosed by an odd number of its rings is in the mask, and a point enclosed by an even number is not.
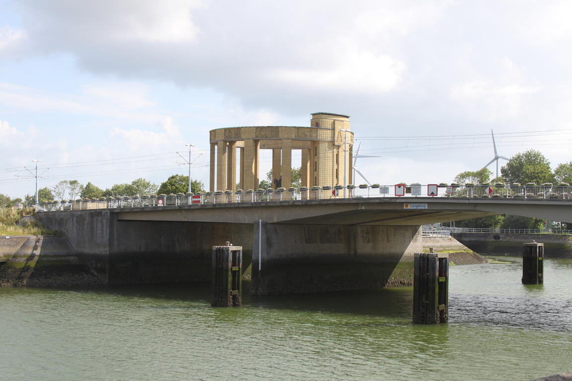
{"type": "Polygon", "coordinates": [[[554,181],[550,162],[540,151],[528,150],[510,158],[501,168],[507,183],[549,183],[554,181]]]}

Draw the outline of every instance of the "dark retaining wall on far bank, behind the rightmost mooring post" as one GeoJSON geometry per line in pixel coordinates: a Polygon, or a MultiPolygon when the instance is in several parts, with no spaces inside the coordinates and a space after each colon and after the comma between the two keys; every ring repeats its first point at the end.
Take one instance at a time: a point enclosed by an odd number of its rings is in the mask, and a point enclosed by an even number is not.
{"type": "Polygon", "coordinates": [[[563,234],[454,233],[456,240],[479,254],[522,255],[525,242],[544,243],[547,258],[572,258],[572,236],[563,234]]]}

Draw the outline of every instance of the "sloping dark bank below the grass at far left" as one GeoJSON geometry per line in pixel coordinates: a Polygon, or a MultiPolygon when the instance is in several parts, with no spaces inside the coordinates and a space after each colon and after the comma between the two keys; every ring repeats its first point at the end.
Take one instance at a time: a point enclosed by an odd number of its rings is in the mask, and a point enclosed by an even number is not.
{"type": "Polygon", "coordinates": [[[103,284],[60,236],[0,237],[0,286],[103,284]]]}

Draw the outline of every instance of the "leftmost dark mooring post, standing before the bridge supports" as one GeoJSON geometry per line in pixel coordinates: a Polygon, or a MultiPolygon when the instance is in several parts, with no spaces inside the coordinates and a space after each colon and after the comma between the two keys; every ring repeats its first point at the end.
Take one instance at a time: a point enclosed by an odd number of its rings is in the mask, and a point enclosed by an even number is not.
{"type": "Polygon", "coordinates": [[[212,273],[210,283],[212,295],[210,305],[213,307],[241,306],[243,277],[243,247],[213,246],[212,273]]]}

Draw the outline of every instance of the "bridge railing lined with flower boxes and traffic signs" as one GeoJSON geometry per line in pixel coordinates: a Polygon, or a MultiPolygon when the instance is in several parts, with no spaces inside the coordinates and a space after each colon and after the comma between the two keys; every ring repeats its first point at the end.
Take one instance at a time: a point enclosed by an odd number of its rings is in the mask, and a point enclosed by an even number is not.
{"type": "MultiPolygon", "coordinates": [[[[571,186],[436,186],[436,185],[383,185],[348,186],[346,198],[396,197],[411,199],[418,196],[456,198],[510,198],[510,199],[572,199],[571,186]]],[[[343,199],[344,187],[312,187],[310,189],[267,189],[257,191],[206,192],[197,195],[153,195],[82,200],[61,200],[41,203],[38,210],[82,210],[106,208],[161,207],[165,205],[216,204],[235,202],[265,202],[317,199],[343,199]]]]}

